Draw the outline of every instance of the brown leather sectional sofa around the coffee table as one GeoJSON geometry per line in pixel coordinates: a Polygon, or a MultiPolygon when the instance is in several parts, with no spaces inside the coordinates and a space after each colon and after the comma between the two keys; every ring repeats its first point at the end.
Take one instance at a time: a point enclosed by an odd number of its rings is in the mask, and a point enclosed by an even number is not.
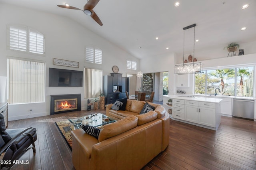
{"type": "Polygon", "coordinates": [[[165,150],[169,114],[162,105],[149,103],[155,110],[140,115],[144,103],[128,99],[126,111],[113,111],[112,104],[106,105],[106,115],[118,121],[104,125],[98,139],[82,129],[72,131],[76,170],[140,170],[165,150]]]}

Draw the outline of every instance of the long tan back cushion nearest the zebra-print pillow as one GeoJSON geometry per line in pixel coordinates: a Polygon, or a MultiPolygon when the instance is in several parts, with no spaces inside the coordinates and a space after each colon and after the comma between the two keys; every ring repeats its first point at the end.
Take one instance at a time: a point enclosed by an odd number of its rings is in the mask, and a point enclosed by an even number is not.
{"type": "Polygon", "coordinates": [[[104,125],[100,131],[98,141],[101,142],[123,132],[126,132],[132,128],[137,127],[137,124],[138,117],[131,115],[114,123],[104,125]]]}

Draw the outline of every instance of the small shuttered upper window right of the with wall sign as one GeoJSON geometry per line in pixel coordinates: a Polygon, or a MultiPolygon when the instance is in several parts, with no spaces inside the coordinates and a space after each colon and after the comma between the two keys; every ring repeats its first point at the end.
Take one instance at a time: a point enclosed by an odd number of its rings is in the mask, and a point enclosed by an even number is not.
{"type": "Polygon", "coordinates": [[[85,48],[85,61],[89,63],[102,64],[102,50],[94,47],[85,48]]]}

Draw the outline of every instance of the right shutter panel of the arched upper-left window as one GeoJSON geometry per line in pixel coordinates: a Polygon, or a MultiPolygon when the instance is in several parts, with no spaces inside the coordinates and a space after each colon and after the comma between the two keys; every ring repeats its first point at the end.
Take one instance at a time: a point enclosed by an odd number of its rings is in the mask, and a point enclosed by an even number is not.
{"type": "Polygon", "coordinates": [[[44,54],[44,35],[29,30],[29,52],[44,54]]]}

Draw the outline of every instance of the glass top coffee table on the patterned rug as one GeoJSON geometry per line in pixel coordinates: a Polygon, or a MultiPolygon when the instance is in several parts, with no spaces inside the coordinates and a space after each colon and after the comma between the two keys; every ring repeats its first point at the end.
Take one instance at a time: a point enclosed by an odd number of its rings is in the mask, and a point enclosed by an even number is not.
{"type": "Polygon", "coordinates": [[[87,115],[83,117],[76,117],[74,119],[68,119],[68,120],[74,125],[75,128],[80,128],[81,125],[90,125],[94,127],[100,127],[116,121],[101,113],[96,113],[94,115],[87,115]]]}

